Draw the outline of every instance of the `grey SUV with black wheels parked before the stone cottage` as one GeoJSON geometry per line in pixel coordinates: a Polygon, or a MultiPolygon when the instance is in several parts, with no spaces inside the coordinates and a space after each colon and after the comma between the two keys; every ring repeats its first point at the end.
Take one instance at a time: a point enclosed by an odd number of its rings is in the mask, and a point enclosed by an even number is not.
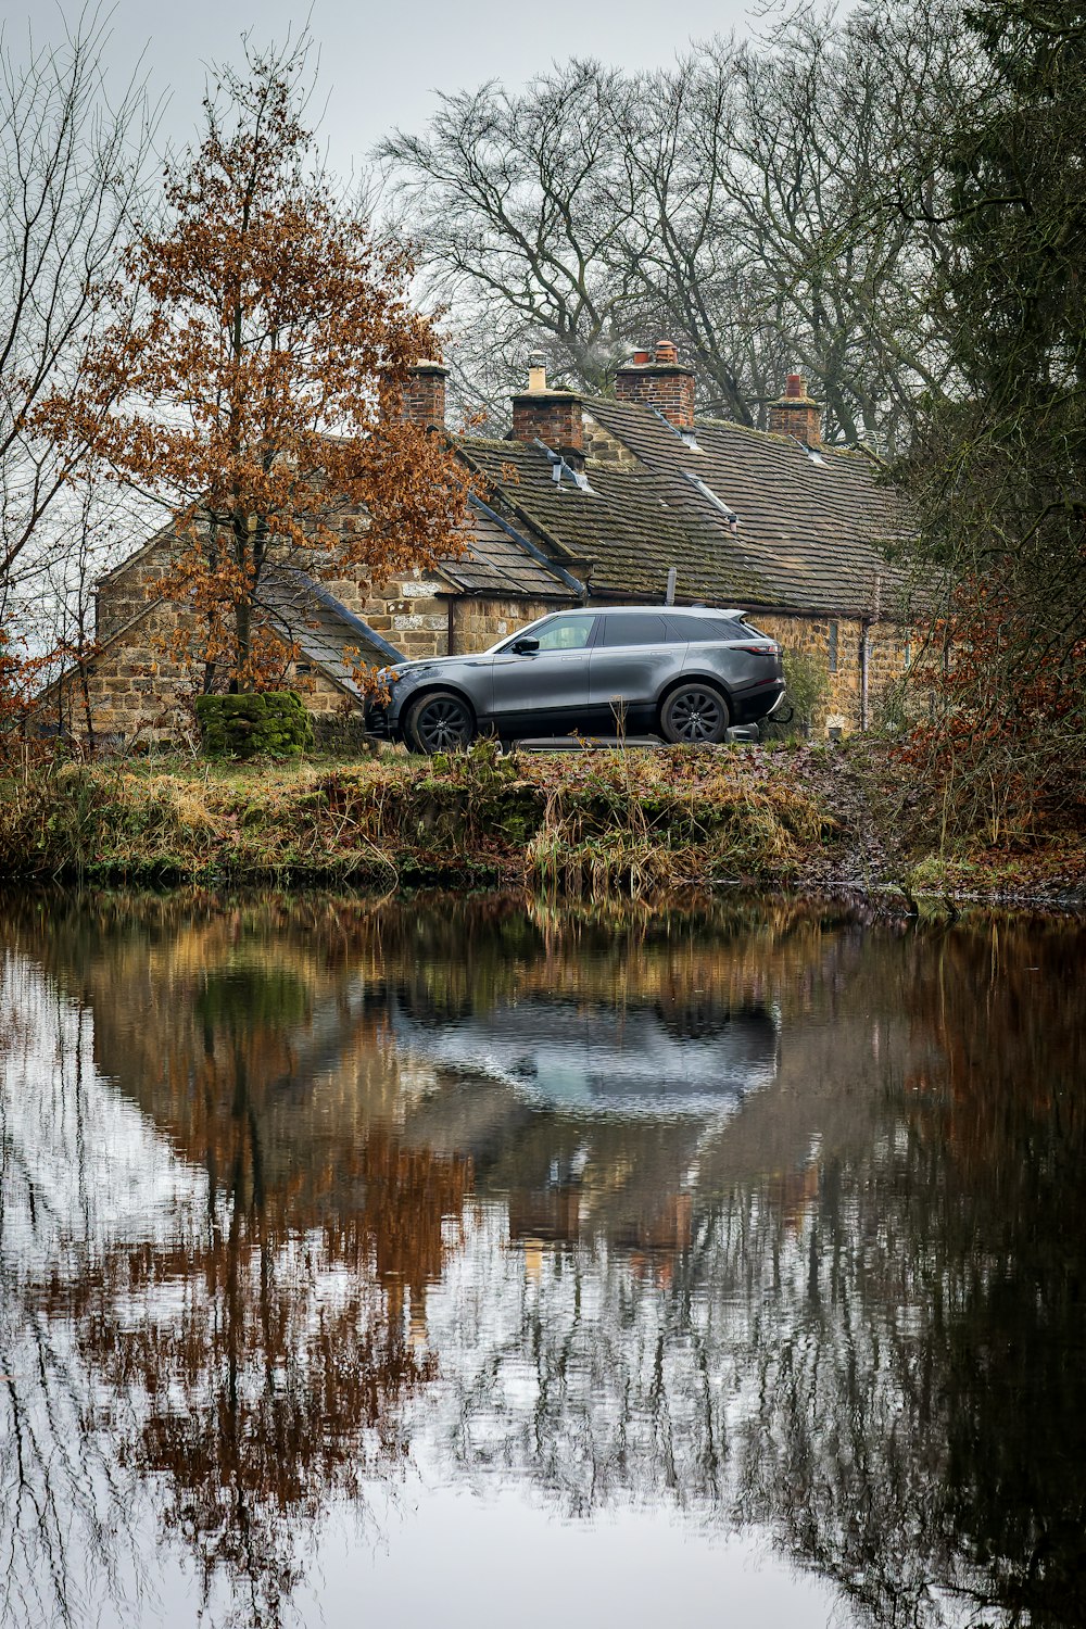
{"type": "Polygon", "coordinates": [[[401,661],[384,676],[389,700],[370,707],[370,728],[418,753],[467,746],[480,731],[723,741],[785,691],[780,645],[741,611],[671,606],[555,611],[490,650],[401,661]]]}

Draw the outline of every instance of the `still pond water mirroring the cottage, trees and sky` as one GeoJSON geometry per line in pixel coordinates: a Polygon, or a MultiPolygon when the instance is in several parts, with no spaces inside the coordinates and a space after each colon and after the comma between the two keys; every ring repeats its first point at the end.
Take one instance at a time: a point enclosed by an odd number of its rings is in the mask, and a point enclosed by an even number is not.
{"type": "Polygon", "coordinates": [[[1086,927],[0,904],[0,1624],[1086,1624],[1086,927]]]}

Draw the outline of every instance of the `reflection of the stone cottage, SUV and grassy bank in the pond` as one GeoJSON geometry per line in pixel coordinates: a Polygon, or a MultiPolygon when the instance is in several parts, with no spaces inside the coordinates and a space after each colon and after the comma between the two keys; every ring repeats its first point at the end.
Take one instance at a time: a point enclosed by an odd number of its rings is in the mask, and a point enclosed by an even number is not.
{"type": "MultiPolygon", "coordinates": [[[[261,1181],[298,1218],[345,1217],[374,1181],[414,1181],[392,1161],[402,1148],[508,1201],[515,1241],[681,1253],[694,1214],[736,1183],[757,1179],[798,1217],[817,1181],[812,1137],[858,1134],[865,1002],[832,1028],[812,1008],[863,979],[853,932],[783,919],[780,938],[764,924],[661,930],[604,955],[493,902],[423,919],[391,904],[348,935],[304,907],[296,929],[282,907],[142,929],[129,904],[72,943],[99,1069],[217,1181],[241,1069],[261,1181]],[[361,1158],[378,1134],[379,1178],[361,1158]]],[[[436,1236],[440,1210],[431,1222],[436,1236]]],[[[440,1272],[440,1253],[423,1254],[440,1272]]]]}

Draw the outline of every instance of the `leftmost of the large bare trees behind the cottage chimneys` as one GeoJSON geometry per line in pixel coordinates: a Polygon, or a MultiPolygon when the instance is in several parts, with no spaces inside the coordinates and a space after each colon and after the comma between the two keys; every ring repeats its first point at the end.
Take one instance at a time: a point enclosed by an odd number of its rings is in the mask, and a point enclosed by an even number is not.
{"type": "Polygon", "coordinates": [[[428,292],[501,358],[544,344],[558,371],[601,386],[630,329],[638,279],[625,262],[633,218],[625,163],[633,81],[573,60],[523,94],[497,83],[443,96],[425,137],[391,135],[399,223],[425,246],[428,292]]]}

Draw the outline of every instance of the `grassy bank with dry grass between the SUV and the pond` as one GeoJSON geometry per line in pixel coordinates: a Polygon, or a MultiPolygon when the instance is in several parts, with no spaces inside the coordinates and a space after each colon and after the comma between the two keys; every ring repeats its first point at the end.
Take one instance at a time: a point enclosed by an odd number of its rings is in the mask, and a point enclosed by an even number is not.
{"type": "MultiPolygon", "coordinates": [[[[60,764],[0,782],[0,875],[129,883],[793,886],[1029,894],[1021,857],[905,854],[843,749],[60,764]],[[886,823],[882,823],[884,828],[886,823]],[[1003,868],[1001,868],[1003,867],[1003,868]]],[[[878,805],[878,800],[874,800],[878,805]]],[[[1081,855],[1034,872],[1068,893],[1081,855]]],[[[1036,891],[1036,889],[1034,889],[1036,891]]]]}

